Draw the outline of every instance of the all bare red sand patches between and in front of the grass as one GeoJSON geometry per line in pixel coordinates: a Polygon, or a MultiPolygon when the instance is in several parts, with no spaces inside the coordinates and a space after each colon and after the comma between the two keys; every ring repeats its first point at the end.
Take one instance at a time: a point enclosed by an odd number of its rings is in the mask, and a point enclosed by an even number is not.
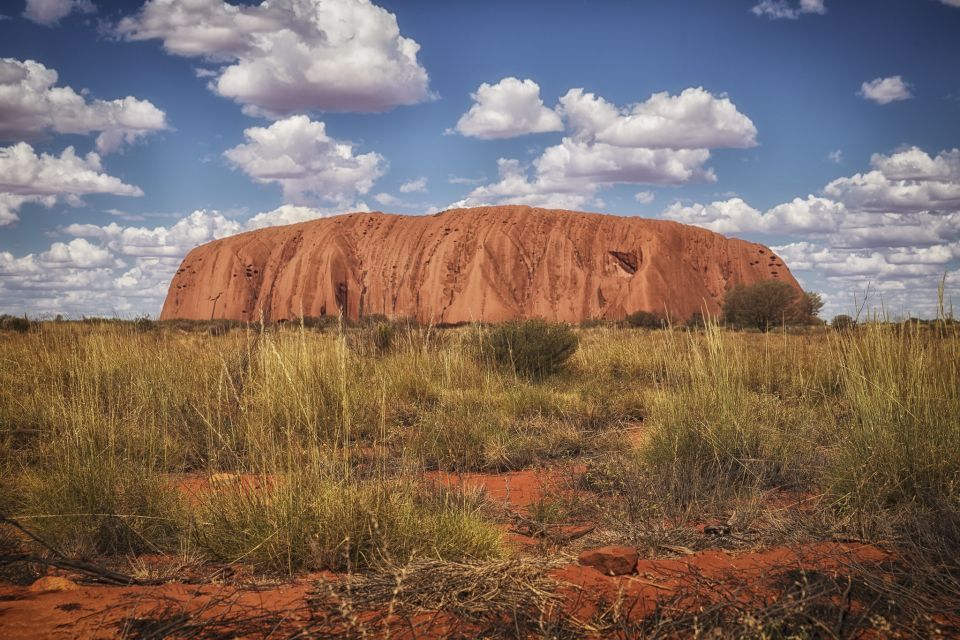
{"type": "MultiPolygon", "coordinates": [[[[503,474],[431,473],[432,480],[460,486],[482,486],[494,502],[523,511],[535,504],[547,490],[556,486],[557,474],[524,470],[503,474]]],[[[239,482],[256,485],[256,479],[221,478],[214,484],[239,482]]],[[[206,478],[187,478],[180,483],[185,491],[203,491],[210,486],[206,478]]],[[[522,539],[523,536],[515,536],[522,539]]],[[[528,539],[527,542],[532,542],[528,539]]],[[[521,544],[520,547],[528,546],[521,544]]],[[[798,548],[775,547],[727,553],[707,550],[681,558],[645,559],[637,563],[635,575],[610,577],[596,569],[571,562],[551,575],[567,583],[565,607],[577,618],[586,620],[615,601],[629,602],[631,615],[643,616],[653,611],[658,601],[672,596],[691,577],[729,581],[731,585],[762,585],[765,577],[789,568],[837,571],[845,560],[879,563],[887,559],[882,550],[869,545],[821,543],[798,548]]],[[[79,582],[80,576],[51,572],[79,582]]],[[[102,586],[76,584],[65,580],[43,578],[33,586],[0,583],[0,637],[9,640],[26,638],[112,638],[121,633],[122,621],[150,617],[162,609],[189,611],[201,618],[214,618],[223,613],[241,615],[257,610],[269,613],[275,620],[279,637],[285,637],[309,621],[306,607],[308,592],[318,580],[336,580],[329,573],[301,576],[282,584],[256,586],[250,581],[236,584],[208,582],[183,584],[171,582],[159,586],[102,586]],[[49,583],[49,584],[48,584],[49,583]],[[52,590],[40,587],[47,584],[52,590]],[[228,604],[224,604],[224,598],[228,604]],[[229,611],[225,609],[229,607],[229,611]],[[282,633],[280,632],[282,630],[282,633]]],[[[442,637],[442,629],[434,626],[427,636],[442,637]]],[[[394,635],[394,637],[398,637],[394,635]]]]}

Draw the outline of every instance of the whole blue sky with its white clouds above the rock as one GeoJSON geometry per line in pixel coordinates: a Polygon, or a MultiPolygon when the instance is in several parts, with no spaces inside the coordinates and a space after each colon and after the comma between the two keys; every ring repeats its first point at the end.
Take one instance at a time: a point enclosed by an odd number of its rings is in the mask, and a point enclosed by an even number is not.
{"type": "Polygon", "coordinates": [[[156,315],[216,237],[509,202],[763,242],[827,317],[960,281],[960,0],[0,13],[0,312],[156,315]]]}

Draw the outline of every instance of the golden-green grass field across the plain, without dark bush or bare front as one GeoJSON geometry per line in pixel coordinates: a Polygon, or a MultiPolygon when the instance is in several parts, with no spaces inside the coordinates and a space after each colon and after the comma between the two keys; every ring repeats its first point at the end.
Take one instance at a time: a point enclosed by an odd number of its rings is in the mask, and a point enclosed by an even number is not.
{"type": "Polygon", "coordinates": [[[960,529],[951,323],[600,326],[542,378],[478,357],[482,327],[385,331],[0,333],[0,511],[78,553],[189,546],[287,572],[477,559],[504,553],[500,529],[424,470],[626,451],[678,504],[788,487],[867,528],[960,529]]]}

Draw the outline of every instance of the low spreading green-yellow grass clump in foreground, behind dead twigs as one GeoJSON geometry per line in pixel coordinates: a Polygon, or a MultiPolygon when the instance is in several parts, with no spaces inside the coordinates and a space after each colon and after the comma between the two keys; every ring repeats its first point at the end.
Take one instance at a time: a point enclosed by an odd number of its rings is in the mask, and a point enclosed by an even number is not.
{"type": "Polygon", "coordinates": [[[298,473],[206,493],[195,513],[201,549],[271,572],[378,566],[414,555],[487,559],[502,553],[482,502],[412,479],[298,473]]]}

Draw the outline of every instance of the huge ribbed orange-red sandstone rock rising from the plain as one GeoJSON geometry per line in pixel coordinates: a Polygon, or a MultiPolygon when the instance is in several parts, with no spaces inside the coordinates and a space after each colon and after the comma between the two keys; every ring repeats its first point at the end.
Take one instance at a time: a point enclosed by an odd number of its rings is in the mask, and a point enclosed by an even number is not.
{"type": "Polygon", "coordinates": [[[768,278],[799,290],[767,247],[665,220],[526,206],[354,213],[193,249],[160,318],[580,322],[646,310],[683,321],[768,278]]]}

